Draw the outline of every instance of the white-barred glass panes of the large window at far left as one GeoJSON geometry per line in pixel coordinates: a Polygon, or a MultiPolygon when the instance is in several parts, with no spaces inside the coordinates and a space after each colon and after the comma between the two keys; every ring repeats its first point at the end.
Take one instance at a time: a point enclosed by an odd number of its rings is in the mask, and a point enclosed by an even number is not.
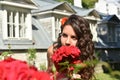
{"type": "Polygon", "coordinates": [[[7,11],[7,37],[12,39],[26,38],[27,14],[23,12],[7,11]]]}

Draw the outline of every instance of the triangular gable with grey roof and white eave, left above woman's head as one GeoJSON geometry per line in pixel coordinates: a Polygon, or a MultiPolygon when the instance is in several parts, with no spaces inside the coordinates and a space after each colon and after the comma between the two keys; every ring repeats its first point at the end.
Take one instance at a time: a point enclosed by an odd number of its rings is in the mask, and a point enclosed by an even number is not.
{"type": "MultiPolygon", "coordinates": [[[[41,3],[37,3],[41,4],[41,3]]],[[[67,3],[67,2],[59,2],[54,4],[47,4],[39,7],[39,10],[33,10],[34,14],[48,14],[48,13],[56,13],[56,14],[75,14],[75,10],[67,3]]]]}

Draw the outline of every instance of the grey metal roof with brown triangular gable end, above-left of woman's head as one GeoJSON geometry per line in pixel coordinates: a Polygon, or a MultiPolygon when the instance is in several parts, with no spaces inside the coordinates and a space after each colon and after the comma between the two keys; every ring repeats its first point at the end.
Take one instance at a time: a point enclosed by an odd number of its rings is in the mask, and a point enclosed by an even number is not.
{"type": "MultiPolygon", "coordinates": [[[[38,2],[38,0],[36,0],[38,2]]],[[[36,3],[39,7],[38,10],[32,10],[32,13],[40,13],[40,12],[45,12],[45,11],[50,11],[54,9],[58,10],[67,10],[72,13],[76,13],[75,10],[69,5],[67,2],[56,2],[56,3],[36,3]],[[64,8],[63,8],[64,6],[64,8]]]]}

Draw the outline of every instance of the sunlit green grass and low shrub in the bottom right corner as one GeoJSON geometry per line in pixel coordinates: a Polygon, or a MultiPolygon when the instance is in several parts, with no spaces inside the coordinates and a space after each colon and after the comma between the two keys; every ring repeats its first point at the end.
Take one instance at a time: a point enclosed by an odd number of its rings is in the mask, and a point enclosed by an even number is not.
{"type": "Polygon", "coordinates": [[[107,62],[98,63],[98,65],[96,66],[96,70],[100,69],[103,69],[103,72],[95,72],[95,80],[120,80],[120,70],[112,70],[112,68],[107,62]]]}

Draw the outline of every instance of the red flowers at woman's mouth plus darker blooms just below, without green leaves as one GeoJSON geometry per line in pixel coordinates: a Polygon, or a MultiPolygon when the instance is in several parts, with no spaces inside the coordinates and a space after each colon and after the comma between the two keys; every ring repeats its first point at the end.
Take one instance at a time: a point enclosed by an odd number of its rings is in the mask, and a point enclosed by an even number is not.
{"type": "MultiPolygon", "coordinates": [[[[64,63],[67,62],[67,64],[77,64],[81,63],[79,60],[79,56],[81,54],[81,51],[75,47],[75,46],[62,46],[59,49],[55,51],[55,53],[52,55],[52,60],[55,64],[55,67],[57,71],[59,71],[61,68],[66,67],[68,65],[64,66],[64,63]],[[63,63],[63,65],[60,65],[60,63],[63,63]]],[[[64,70],[73,70],[74,68],[71,66],[66,67],[64,70]]]]}

